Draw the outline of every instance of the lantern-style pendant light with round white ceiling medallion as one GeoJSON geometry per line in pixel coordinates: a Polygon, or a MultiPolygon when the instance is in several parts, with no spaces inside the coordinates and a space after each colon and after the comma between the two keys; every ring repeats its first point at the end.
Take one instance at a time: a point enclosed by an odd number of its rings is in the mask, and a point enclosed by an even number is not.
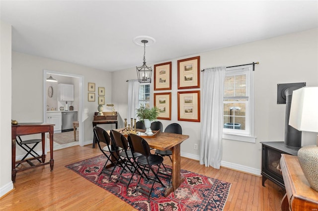
{"type": "MultiPolygon", "coordinates": [[[[143,45],[144,46],[144,61],[143,61],[143,65],[141,66],[136,66],[136,70],[137,70],[137,76],[138,76],[138,81],[140,83],[151,83],[151,75],[153,72],[152,67],[149,67],[146,65],[146,44],[150,43],[153,44],[155,43],[155,39],[152,37],[148,37],[148,36],[138,36],[134,38],[134,42],[137,45],[143,45]],[[151,41],[151,42],[149,42],[151,41]]],[[[148,45],[149,46],[149,45],[148,45]]]]}

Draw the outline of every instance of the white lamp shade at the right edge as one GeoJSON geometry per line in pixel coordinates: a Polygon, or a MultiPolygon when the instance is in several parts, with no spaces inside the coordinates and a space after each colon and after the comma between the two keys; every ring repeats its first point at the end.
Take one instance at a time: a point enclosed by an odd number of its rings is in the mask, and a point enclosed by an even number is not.
{"type": "Polygon", "coordinates": [[[293,91],[289,125],[300,131],[318,132],[318,87],[293,91]]]}

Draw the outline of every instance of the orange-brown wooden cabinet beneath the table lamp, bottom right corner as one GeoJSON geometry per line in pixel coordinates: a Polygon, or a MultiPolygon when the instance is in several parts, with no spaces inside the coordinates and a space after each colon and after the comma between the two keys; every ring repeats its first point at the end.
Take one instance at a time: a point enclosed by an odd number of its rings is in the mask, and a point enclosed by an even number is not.
{"type": "Polygon", "coordinates": [[[286,188],[282,211],[318,211],[318,192],[310,187],[298,157],[282,154],[280,167],[286,188]]]}

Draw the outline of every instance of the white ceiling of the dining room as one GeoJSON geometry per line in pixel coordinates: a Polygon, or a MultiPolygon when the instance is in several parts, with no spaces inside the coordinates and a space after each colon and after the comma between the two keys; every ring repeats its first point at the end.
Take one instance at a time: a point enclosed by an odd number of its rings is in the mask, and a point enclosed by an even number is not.
{"type": "Polygon", "coordinates": [[[105,71],[318,28],[318,0],[1,0],[12,50],[105,71]]]}

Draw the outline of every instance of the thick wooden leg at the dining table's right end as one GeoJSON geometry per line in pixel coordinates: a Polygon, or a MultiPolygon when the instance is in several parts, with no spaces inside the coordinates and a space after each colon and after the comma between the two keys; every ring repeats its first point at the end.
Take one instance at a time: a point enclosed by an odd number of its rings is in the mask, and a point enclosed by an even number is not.
{"type": "Polygon", "coordinates": [[[175,145],[171,148],[172,151],[172,184],[167,187],[164,192],[164,196],[167,197],[171,192],[175,191],[180,184],[184,181],[184,177],[181,176],[181,166],[180,166],[180,144],[175,145]]]}

